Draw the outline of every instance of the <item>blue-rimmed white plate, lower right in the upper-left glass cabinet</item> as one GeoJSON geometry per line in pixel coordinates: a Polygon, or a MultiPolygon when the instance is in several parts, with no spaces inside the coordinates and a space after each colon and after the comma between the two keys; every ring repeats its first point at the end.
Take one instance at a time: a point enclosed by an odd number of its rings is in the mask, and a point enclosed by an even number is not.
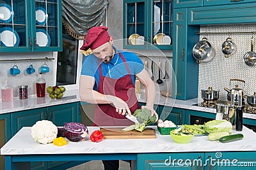
{"type": "Polygon", "coordinates": [[[36,45],[39,47],[49,47],[51,37],[44,29],[36,29],[36,45]]]}

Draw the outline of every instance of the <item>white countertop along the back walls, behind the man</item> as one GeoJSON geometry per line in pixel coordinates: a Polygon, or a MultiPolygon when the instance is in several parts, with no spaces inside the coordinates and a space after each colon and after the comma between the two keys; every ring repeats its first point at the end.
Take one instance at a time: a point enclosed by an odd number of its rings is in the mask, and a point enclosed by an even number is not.
{"type": "MultiPolygon", "coordinates": [[[[139,102],[146,102],[145,92],[141,91],[137,94],[139,102]]],[[[14,98],[12,102],[0,102],[0,114],[16,111],[24,111],[28,109],[36,109],[40,107],[48,107],[51,105],[67,104],[72,102],[79,102],[79,91],[78,89],[72,89],[65,91],[64,97],[58,100],[52,100],[47,95],[43,98],[38,98],[36,95],[30,95],[28,99],[20,100],[19,98],[14,98]]],[[[193,111],[209,112],[212,114],[216,113],[216,109],[209,107],[200,107],[197,105],[198,98],[193,98],[190,100],[177,100],[174,98],[163,97],[159,92],[156,93],[155,104],[166,105],[169,107],[176,107],[180,109],[189,109],[193,111]]],[[[250,118],[256,120],[256,114],[248,114],[244,112],[244,118],[250,118]]]]}

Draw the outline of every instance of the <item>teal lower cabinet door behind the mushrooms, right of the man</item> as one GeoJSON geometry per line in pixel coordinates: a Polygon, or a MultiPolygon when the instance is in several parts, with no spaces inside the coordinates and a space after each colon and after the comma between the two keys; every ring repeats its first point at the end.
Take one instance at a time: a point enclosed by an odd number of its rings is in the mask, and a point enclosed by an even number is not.
{"type": "Polygon", "coordinates": [[[163,109],[159,118],[161,120],[171,120],[175,125],[182,125],[185,123],[185,110],[177,109],[168,106],[161,106],[163,109]]]}

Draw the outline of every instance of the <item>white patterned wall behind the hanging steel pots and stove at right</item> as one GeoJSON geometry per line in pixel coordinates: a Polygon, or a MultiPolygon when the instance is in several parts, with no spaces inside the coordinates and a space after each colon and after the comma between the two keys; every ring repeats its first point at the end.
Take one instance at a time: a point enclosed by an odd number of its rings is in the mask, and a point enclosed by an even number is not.
{"type": "MultiPolygon", "coordinates": [[[[220,100],[227,100],[227,91],[223,88],[232,89],[237,84],[244,89],[245,95],[253,95],[256,91],[255,72],[256,66],[248,66],[244,63],[243,56],[251,50],[252,31],[256,30],[256,24],[239,24],[225,26],[201,26],[201,33],[215,33],[200,35],[200,40],[205,36],[216,50],[216,54],[211,61],[199,65],[198,77],[198,100],[202,102],[201,89],[220,90],[220,100]],[[223,34],[230,32],[230,34],[223,34]],[[239,34],[232,32],[250,32],[249,34],[239,34]],[[229,58],[225,58],[221,52],[221,44],[230,36],[232,42],[237,46],[236,52],[229,58]],[[243,79],[245,84],[230,79],[243,79]]],[[[256,35],[253,35],[256,38],[256,35]]],[[[254,47],[255,50],[255,47],[254,47]]]]}

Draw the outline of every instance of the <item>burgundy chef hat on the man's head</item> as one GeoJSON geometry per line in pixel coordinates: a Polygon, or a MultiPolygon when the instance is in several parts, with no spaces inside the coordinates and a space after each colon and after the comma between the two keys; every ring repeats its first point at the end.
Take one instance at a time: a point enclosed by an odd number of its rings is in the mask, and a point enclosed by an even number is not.
{"type": "Polygon", "coordinates": [[[98,26],[89,29],[84,45],[80,48],[81,50],[97,49],[100,45],[109,42],[110,36],[108,34],[108,27],[98,26]]]}

